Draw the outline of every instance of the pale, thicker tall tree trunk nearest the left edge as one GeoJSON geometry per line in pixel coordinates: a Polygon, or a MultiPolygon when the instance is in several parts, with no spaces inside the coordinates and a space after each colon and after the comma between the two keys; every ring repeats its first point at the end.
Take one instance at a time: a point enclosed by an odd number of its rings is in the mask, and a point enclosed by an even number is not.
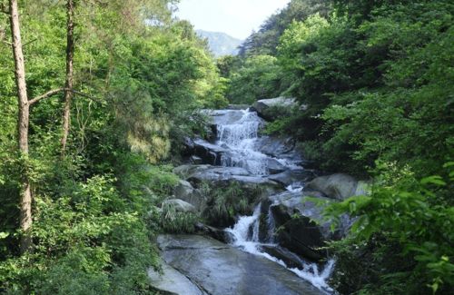
{"type": "MultiPolygon", "coordinates": [[[[11,37],[13,45],[13,55],[15,58],[15,84],[17,88],[17,99],[19,106],[19,117],[17,120],[18,145],[21,156],[25,159],[28,156],[28,123],[30,105],[28,103],[26,83],[25,83],[25,62],[22,51],[21,30],[19,23],[19,11],[17,0],[9,0],[9,13],[11,25],[11,37]]],[[[21,239],[21,251],[29,251],[32,247],[30,227],[32,226],[32,192],[28,172],[24,172],[21,177],[21,213],[20,226],[24,234],[21,239]]]]}

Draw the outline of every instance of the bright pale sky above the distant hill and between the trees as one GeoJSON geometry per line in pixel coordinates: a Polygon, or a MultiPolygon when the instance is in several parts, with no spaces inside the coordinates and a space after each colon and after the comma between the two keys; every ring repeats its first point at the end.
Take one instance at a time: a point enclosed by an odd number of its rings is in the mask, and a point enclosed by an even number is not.
{"type": "Polygon", "coordinates": [[[290,0],[181,0],[176,16],[197,30],[223,32],[246,39],[268,16],[290,0]]]}

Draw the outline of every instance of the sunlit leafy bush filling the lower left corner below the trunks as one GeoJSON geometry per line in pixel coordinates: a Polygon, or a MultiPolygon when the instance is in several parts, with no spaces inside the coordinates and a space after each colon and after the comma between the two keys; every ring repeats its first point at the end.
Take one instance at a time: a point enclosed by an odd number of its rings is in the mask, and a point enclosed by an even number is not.
{"type": "Polygon", "coordinates": [[[156,265],[149,233],[139,212],[128,212],[114,182],[95,176],[77,184],[71,196],[35,197],[34,252],[0,263],[0,288],[44,294],[146,290],[144,270],[156,265]]]}

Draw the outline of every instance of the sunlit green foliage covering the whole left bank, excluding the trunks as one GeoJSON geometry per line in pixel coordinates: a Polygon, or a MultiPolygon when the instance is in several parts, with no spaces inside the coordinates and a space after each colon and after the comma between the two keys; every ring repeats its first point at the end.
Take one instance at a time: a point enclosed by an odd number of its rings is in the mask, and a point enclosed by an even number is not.
{"type": "MultiPolygon", "coordinates": [[[[146,270],[157,266],[150,238],[161,229],[149,221],[178,180],[163,159],[206,127],[198,108],[227,103],[206,44],[173,22],[171,2],[76,1],[74,89],[84,95],[74,94],[64,159],[61,94],[31,108],[30,153],[17,153],[13,56],[0,42],[0,292],[153,293],[146,270]],[[20,255],[25,172],[35,248],[20,255]]],[[[66,11],[61,1],[19,5],[32,98],[64,85],[66,11]]],[[[0,14],[0,41],[9,35],[0,14]]]]}

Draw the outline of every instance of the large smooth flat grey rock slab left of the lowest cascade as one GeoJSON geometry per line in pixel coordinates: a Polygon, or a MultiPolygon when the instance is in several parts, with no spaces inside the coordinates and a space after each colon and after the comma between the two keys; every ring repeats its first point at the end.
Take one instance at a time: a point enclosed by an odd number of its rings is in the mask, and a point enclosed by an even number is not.
{"type": "Polygon", "coordinates": [[[158,246],[168,265],[207,294],[323,294],[281,265],[211,238],[161,235],[158,246]]]}

